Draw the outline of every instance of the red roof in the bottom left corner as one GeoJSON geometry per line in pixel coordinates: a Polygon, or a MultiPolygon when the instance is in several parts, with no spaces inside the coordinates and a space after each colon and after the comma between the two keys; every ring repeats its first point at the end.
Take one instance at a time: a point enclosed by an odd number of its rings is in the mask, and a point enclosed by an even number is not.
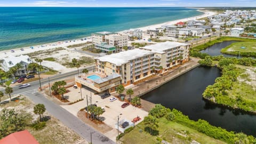
{"type": "Polygon", "coordinates": [[[27,130],[14,132],[0,140],[0,144],[39,144],[27,130]]]}

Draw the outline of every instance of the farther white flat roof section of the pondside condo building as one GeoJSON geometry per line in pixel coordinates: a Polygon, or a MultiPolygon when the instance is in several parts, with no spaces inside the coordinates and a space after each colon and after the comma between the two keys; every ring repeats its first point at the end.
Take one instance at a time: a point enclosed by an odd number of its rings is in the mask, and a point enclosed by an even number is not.
{"type": "Polygon", "coordinates": [[[156,52],[156,53],[165,53],[165,50],[171,49],[173,47],[178,47],[178,46],[186,46],[190,44],[185,44],[185,43],[179,43],[179,42],[164,42],[164,43],[157,43],[154,45],[148,45],[145,47],[142,47],[141,49],[146,49],[151,52],[156,52]]]}

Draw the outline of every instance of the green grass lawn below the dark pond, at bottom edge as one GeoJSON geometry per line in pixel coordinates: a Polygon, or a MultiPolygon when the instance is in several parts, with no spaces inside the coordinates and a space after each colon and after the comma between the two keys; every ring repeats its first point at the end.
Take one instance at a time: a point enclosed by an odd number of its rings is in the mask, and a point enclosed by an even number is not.
{"type": "Polygon", "coordinates": [[[190,143],[196,140],[200,143],[225,143],[220,140],[213,139],[207,135],[200,133],[194,129],[183,126],[181,124],[167,121],[165,118],[159,119],[158,123],[159,134],[156,136],[150,135],[144,131],[145,125],[138,124],[134,129],[125,134],[120,139],[123,143],[160,143],[156,140],[157,137],[170,143],[190,143]],[[140,131],[142,130],[142,131],[140,131]]]}

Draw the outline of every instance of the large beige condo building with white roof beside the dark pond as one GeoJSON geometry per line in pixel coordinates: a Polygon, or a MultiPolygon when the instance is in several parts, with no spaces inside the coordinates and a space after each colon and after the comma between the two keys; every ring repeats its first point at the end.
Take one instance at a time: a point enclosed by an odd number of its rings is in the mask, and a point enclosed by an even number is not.
{"type": "Polygon", "coordinates": [[[140,49],[94,58],[96,71],[105,75],[121,75],[122,84],[130,85],[153,73],[161,74],[168,68],[189,60],[190,44],[164,42],[140,49]]]}

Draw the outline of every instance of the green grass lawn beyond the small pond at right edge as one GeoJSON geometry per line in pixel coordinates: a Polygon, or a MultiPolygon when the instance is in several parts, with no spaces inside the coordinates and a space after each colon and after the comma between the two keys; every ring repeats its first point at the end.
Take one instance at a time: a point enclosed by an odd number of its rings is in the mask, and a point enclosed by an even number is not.
{"type": "Polygon", "coordinates": [[[256,52],[256,43],[255,42],[237,42],[230,44],[221,50],[221,52],[229,52],[229,51],[238,51],[238,52],[256,52]],[[241,47],[246,47],[245,49],[241,49],[241,47]]]}

